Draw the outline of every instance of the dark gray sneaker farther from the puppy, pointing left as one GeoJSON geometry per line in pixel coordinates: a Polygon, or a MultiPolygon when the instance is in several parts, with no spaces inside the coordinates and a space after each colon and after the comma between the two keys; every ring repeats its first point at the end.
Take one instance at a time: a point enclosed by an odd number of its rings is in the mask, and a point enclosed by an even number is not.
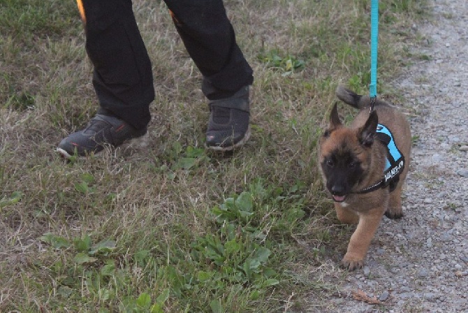
{"type": "Polygon", "coordinates": [[[147,128],[135,129],[118,117],[97,114],[82,131],[61,140],[57,152],[67,159],[75,153],[84,157],[101,152],[105,145],[117,147],[126,140],[145,135],[147,128]]]}

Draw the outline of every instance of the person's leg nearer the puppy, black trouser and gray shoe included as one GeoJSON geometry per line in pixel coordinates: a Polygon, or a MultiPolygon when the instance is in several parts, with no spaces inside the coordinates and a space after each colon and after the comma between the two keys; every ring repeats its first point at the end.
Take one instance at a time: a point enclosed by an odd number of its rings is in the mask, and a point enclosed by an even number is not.
{"type": "Polygon", "coordinates": [[[177,31],[203,75],[210,104],[207,147],[231,150],[249,137],[253,71],[235,41],[222,0],[165,0],[177,31]]]}

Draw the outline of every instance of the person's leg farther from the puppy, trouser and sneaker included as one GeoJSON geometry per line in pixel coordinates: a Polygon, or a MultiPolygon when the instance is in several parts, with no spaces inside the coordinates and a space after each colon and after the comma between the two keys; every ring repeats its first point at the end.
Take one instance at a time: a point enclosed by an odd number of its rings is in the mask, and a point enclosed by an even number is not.
{"type": "Polygon", "coordinates": [[[131,0],[78,0],[85,24],[86,50],[94,65],[98,114],[86,129],[59,144],[68,156],[99,152],[142,136],[154,100],[151,62],[133,15],[131,0]]]}

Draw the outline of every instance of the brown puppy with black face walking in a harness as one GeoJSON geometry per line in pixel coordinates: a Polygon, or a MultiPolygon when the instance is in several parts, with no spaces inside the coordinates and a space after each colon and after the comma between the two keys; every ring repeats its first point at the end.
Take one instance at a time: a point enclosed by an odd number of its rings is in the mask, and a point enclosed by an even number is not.
{"type": "Polygon", "coordinates": [[[339,221],[358,224],[342,260],[345,268],[355,270],[363,266],[383,214],[390,219],[403,216],[411,132],[406,117],[384,101],[376,99],[370,112],[369,96],[344,87],[337,88],[337,96],[360,112],[344,126],[335,104],[320,140],[319,167],[339,221]]]}

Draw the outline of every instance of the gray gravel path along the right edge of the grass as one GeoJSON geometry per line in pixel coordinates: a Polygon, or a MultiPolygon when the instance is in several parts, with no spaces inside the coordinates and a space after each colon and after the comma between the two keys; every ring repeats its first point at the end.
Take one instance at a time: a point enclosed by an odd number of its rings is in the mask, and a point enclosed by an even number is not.
{"type": "Polygon", "coordinates": [[[427,46],[412,51],[430,60],[395,80],[416,108],[405,216],[383,219],[330,312],[468,312],[468,1],[430,5],[434,20],[414,25],[427,46]],[[358,290],[381,305],[356,300],[358,290]]]}

